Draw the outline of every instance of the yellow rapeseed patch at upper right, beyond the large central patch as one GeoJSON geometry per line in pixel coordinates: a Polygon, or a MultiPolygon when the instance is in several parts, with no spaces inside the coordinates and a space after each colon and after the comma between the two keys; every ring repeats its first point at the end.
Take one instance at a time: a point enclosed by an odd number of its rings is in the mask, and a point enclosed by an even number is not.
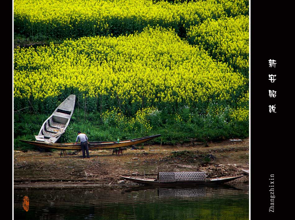
{"type": "Polygon", "coordinates": [[[188,31],[191,44],[202,45],[218,61],[226,62],[248,76],[249,16],[207,19],[188,31]]]}

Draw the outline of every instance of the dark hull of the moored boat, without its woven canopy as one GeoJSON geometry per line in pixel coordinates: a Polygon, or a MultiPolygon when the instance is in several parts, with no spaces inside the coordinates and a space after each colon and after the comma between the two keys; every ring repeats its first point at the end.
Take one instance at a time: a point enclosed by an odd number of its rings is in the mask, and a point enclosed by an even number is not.
{"type": "Polygon", "coordinates": [[[175,181],[175,182],[159,182],[157,179],[143,179],[137,177],[128,177],[121,176],[121,178],[125,180],[129,180],[135,183],[140,183],[144,185],[152,185],[152,186],[177,186],[177,185],[214,185],[214,184],[222,184],[229,181],[233,181],[243,176],[230,176],[230,177],[220,177],[220,178],[208,178],[206,181],[175,181]]]}

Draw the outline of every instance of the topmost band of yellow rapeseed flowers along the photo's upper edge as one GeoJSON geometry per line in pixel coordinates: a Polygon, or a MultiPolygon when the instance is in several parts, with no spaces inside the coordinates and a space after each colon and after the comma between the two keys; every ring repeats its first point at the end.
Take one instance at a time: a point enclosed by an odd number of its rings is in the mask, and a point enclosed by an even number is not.
{"type": "Polygon", "coordinates": [[[178,31],[207,18],[225,17],[225,4],[152,0],[14,0],[15,32],[46,38],[126,34],[147,25],[178,31]]]}

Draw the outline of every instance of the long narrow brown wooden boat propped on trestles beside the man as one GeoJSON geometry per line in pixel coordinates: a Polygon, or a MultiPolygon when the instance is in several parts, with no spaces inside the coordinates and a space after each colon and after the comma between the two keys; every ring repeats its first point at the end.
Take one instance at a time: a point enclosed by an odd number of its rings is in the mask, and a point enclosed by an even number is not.
{"type": "MultiPolygon", "coordinates": [[[[143,142],[146,142],[148,140],[152,140],[156,137],[159,137],[161,135],[151,135],[147,137],[141,137],[141,138],[135,138],[130,140],[120,140],[117,141],[93,141],[89,142],[88,147],[89,150],[99,150],[99,149],[115,149],[115,148],[122,148],[122,147],[128,147],[135,144],[141,144],[143,142]]],[[[29,140],[20,140],[22,142],[25,142],[27,144],[32,144],[37,147],[41,148],[48,148],[48,149],[58,149],[58,150],[80,150],[81,149],[81,143],[78,143],[75,145],[75,143],[48,143],[48,142],[39,142],[39,141],[29,141],[29,140]]]]}

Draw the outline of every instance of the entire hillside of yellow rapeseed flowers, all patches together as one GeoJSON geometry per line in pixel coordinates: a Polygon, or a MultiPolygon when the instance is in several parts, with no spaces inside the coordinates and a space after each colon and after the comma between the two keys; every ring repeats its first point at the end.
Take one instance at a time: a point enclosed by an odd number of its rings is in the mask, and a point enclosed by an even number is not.
{"type": "Polygon", "coordinates": [[[247,0],[14,0],[13,12],[16,34],[66,39],[14,49],[15,100],[74,91],[132,109],[133,118],[113,108],[102,119],[142,132],[157,109],[249,118],[247,0]]]}

